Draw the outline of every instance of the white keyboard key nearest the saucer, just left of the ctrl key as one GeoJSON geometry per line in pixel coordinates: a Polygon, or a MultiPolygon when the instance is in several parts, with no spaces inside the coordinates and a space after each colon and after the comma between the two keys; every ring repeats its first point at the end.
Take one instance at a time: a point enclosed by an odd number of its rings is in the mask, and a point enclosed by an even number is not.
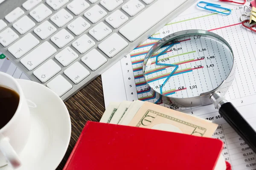
{"type": "Polygon", "coordinates": [[[46,86],[60,97],[70,91],[71,88],[73,88],[73,86],[61,75],[58,75],[57,77],[52,79],[50,82],[47,83],[46,86]]]}

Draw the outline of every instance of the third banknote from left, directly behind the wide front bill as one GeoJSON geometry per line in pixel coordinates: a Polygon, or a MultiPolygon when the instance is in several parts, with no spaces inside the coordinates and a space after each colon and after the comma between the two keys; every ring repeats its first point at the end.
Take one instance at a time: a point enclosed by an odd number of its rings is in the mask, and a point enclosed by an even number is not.
{"type": "Polygon", "coordinates": [[[122,117],[119,125],[128,125],[131,122],[131,119],[134,117],[134,115],[139,111],[140,107],[144,104],[143,101],[136,100],[134,101],[128,110],[126,111],[125,115],[122,117]]]}

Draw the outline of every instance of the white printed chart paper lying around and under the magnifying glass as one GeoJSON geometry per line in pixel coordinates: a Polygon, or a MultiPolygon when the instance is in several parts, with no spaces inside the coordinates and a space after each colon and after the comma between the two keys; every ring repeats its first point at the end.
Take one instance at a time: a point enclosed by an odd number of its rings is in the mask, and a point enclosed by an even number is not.
{"type": "MultiPolygon", "coordinates": [[[[207,2],[212,3],[210,0],[207,0],[207,2]]],[[[227,16],[211,11],[203,11],[197,8],[196,5],[192,5],[183,14],[175,18],[175,20],[172,20],[172,22],[157,31],[152,37],[163,38],[177,31],[203,29],[212,31],[227,40],[234,52],[236,78],[225,95],[225,98],[232,102],[250,125],[256,129],[256,33],[244,28],[239,20],[241,14],[244,14],[244,6],[222,3],[220,1],[215,1],[214,3],[218,3],[225,8],[230,8],[232,13],[227,16]]],[[[249,3],[245,5],[249,5],[249,3]]],[[[145,83],[142,71],[145,55],[155,42],[157,40],[146,40],[131,51],[130,54],[122,58],[120,62],[117,62],[116,65],[102,74],[106,106],[111,101],[122,102],[124,99],[128,101],[140,99],[142,101],[156,102],[154,96],[148,93],[148,85],[145,83]],[[120,92],[120,89],[122,89],[122,92],[120,92]],[[119,92],[117,93],[117,91],[119,92]],[[116,99],[120,100],[116,101],[116,99]]],[[[196,47],[189,45],[190,43],[182,44],[182,48],[192,48],[191,53],[187,55],[191,55],[196,50],[196,47]]],[[[182,54],[182,50],[175,51],[175,54],[182,54]]],[[[168,55],[171,56],[172,53],[168,55]]],[[[214,54],[211,56],[214,56],[214,54]]],[[[181,59],[182,57],[180,58],[180,62],[183,61],[181,59]]],[[[212,57],[211,59],[214,58],[212,57]]],[[[218,73],[216,73],[216,76],[218,76],[218,73]]],[[[195,81],[193,83],[197,84],[198,82],[195,81]]],[[[230,162],[232,169],[256,169],[255,153],[253,153],[243,139],[219,115],[213,105],[196,108],[178,108],[172,105],[160,105],[199,116],[218,124],[213,137],[221,139],[224,142],[222,154],[225,160],[230,162]]]]}

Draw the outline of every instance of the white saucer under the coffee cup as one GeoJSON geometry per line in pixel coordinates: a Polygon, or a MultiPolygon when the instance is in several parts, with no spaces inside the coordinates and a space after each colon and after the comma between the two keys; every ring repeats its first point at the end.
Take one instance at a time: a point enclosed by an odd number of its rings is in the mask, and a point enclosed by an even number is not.
{"type": "MultiPolygon", "coordinates": [[[[55,170],[63,159],[71,136],[71,121],[61,98],[29,80],[17,79],[31,114],[28,143],[20,153],[22,166],[17,170],[55,170]]],[[[8,165],[0,170],[12,170],[8,165]]]]}

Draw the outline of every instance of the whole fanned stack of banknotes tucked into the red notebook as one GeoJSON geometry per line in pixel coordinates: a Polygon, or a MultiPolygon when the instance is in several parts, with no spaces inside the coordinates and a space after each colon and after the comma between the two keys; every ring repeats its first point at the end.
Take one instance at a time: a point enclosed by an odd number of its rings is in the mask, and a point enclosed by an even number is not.
{"type": "MultiPolygon", "coordinates": [[[[217,124],[209,120],[140,100],[134,102],[111,102],[100,122],[202,137],[212,137],[218,127],[217,124]]],[[[226,170],[222,155],[218,159],[215,170],[226,170]]]]}

